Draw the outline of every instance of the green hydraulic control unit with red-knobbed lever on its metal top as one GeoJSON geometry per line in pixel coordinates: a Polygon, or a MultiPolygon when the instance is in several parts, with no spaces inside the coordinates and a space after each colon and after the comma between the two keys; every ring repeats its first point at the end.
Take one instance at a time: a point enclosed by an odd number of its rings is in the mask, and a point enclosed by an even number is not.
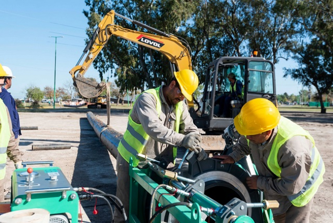
{"type": "Polygon", "coordinates": [[[43,208],[50,222],[77,222],[79,199],[64,173],[53,161],[24,162],[12,175],[11,211],[43,208]],[[49,167],[26,168],[49,164],[49,167]],[[70,216],[69,216],[70,215],[70,216]]]}

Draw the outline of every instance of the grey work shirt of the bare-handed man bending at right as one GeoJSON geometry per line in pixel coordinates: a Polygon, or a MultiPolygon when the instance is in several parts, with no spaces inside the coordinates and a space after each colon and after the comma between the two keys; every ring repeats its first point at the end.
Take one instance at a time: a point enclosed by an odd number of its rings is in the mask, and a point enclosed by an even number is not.
{"type": "Polygon", "coordinates": [[[310,152],[313,144],[304,136],[293,136],[279,149],[278,163],[281,167],[281,178],[273,174],[267,167],[267,158],[272,149],[278,127],[273,130],[272,136],[262,144],[251,141],[247,146],[245,136],[241,136],[233,147],[231,157],[237,162],[243,156],[252,154],[258,171],[257,187],[264,192],[265,199],[277,200],[280,207],[272,209],[273,215],[284,214],[292,203],[287,196],[297,194],[307,180],[311,166],[310,152]]]}

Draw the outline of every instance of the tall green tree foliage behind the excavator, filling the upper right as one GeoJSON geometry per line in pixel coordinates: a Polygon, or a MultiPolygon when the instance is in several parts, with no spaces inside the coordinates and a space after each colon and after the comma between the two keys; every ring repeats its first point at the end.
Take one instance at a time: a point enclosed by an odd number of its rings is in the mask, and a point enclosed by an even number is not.
{"type": "MultiPolygon", "coordinates": [[[[295,55],[293,58],[298,61],[299,69],[286,69],[285,75],[299,80],[304,86],[317,85],[319,97],[332,89],[329,79],[333,55],[332,0],[86,0],[86,4],[89,7],[84,11],[88,18],[88,36],[92,36],[103,16],[114,9],[121,15],[162,32],[173,33],[184,43],[188,42],[192,49],[193,70],[198,74],[200,84],[204,82],[207,65],[218,57],[249,56],[251,51],[259,50],[259,54],[273,60],[274,64],[280,58],[295,55]],[[309,42],[309,37],[316,40],[311,40],[304,49],[300,48],[300,40],[309,42]],[[305,61],[306,50],[313,51],[313,59],[305,61]],[[305,64],[308,67],[306,72],[305,64]],[[316,72],[307,79],[306,75],[312,72],[309,69],[316,72]]],[[[115,24],[150,32],[118,16],[115,24]]],[[[127,90],[135,92],[157,87],[161,82],[169,83],[172,77],[169,60],[160,52],[117,36],[109,38],[93,65],[101,80],[107,72],[117,77],[115,84],[118,88],[113,90],[113,95],[118,99],[127,90]]],[[[281,96],[281,100],[286,97],[281,96]]]]}

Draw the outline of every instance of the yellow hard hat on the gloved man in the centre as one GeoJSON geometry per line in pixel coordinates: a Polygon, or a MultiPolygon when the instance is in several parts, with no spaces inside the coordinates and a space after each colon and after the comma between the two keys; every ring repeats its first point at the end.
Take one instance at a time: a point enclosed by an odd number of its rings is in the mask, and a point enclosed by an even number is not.
{"type": "Polygon", "coordinates": [[[199,85],[199,79],[194,71],[184,69],[178,72],[174,72],[181,93],[188,99],[192,100],[192,94],[199,85]]]}

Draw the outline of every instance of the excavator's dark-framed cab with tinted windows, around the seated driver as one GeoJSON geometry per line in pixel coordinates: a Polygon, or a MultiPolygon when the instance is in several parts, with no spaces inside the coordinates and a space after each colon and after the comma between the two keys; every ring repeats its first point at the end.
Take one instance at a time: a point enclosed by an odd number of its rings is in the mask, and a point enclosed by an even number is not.
{"type": "Polygon", "coordinates": [[[221,57],[207,68],[204,91],[198,101],[198,110],[190,109],[194,124],[206,134],[221,134],[234,123],[242,106],[251,99],[263,97],[276,101],[275,74],[272,62],[262,57],[221,57]],[[230,98],[228,116],[221,117],[221,97],[229,96],[227,75],[234,73],[243,84],[242,96],[230,98]]]}

